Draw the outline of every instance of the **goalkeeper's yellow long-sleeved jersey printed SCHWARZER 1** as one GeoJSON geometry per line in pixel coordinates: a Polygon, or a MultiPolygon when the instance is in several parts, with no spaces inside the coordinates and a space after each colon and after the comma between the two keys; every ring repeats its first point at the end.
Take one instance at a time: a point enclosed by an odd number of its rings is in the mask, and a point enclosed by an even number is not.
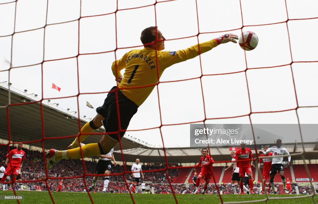
{"type": "Polygon", "coordinates": [[[115,78],[119,78],[121,76],[120,71],[125,69],[118,87],[128,99],[140,106],[155,88],[167,67],[195,58],[217,45],[217,42],[213,39],[178,51],[156,51],[149,47],[132,50],[113,63],[112,71],[115,78]],[[158,63],[156,56],[158,56],[158,63]],[[117,63],[117,73],[115,63],[117,63]],[[157,70],[159,71],[159,77],[157,70]]]}

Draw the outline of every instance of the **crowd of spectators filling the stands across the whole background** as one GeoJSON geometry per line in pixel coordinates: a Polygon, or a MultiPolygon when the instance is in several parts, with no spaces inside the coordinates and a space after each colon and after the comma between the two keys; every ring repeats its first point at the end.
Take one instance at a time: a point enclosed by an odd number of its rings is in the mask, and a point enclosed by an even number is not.
{"type": "MultiPolygon", "coordinates": [[[[16,147],[14,147],[16,148],[16,147]]],[[[10,146],[10,150],[13,149],[10,146]]],[[[84,178],[86,179],[86,186],[90,187],[93,182],[93,176],[85,176],[84,177],[84,169],[86,170],[86,174],[94,174],[95,167],[97,161],[84,161],[85,168],[83,166],[82,160],[61,160],[59,163],[54,165],[47,173],[50,179],[46,180],[46,171],[44,166],[44,159],[43,153],[39,151],[27,150],[23,149],[26,153],[26,158],[23,162],[23,167],[21,168],[22,172],[22,180],[25,185],[27,185],[31,190],[38,190],[38,191],[45,191],[48,190],[47,186],[51,191],[55,191],[58,187],[59,181],[61,177],[64,178],[63,181],[63,191],[73,191],[73,192],[83,192],[86,191],[84,178]],[[79,177],[79,178],[70,178],[70,177],[79,177]],[[40,180],[40,181],[33,181],[33,180],[40,180]],[[47,182],[47,184],[46,184],[47,182]]],[[[5,155],[8,153],[7,146],[0,146],[0,162],[1,166],[3,165],[6,157],[5,155]]],[[[163,169],[164,166],[142,166],[143,171],[147,170],[155,170],[155,169],[163,169]]],[[[126,187],[126,183],[124,182],[124,176],[126,180],[129,182],[132,180],[131,176],[131,166],[126,165],[126,171],[129,173],[122,174],[122,175],[114,175],[110,177],[110,183],[107,189],[107,192],[111,193],[128,193],[128,189],[126,187]]],[[[112,173],[123,173],[124,166],[114,166],[112,173]]],[[[178,169],[169,169],[168,174],[170,181],[178,176],[179,170],[178,169]]],[[[170,185],[168,184],[167,176],[165,171],[157,171],[157,172],[147,172],[144,173],[145,181],[151,181],[154,183],[155,193],[156,194],[169,194],[171,193],[170,185]]],[[[101,176],[98,180],[94,191],[101,192],[104,186],[104,177],[101,176]]],[[[172,184],[175,193],[182,194],[192,194],[195,190],[193,184],[172,184]]],[[[297,183],[292,183],[291,187],[291,194],[296,194],[297,183]]],[[[237,185],[237,192],[240,192],[240,188],[237,185]]],[[[248,187],[248,186],[247,186],[248,187]]],[[[259,183],[255,183],[254,187],[260,187],[259,183]]],[[[267,184],[268,187],[268,184],[267,184]]],[[[277,188],[277,193],[280,193],[278,184],[275,184],[277,188]]],[[[18,189],[19,186],[17,185],[16,188],[18,189]]],[[[232,186],[229,184],[218,184],[218,188],[222,191],[222,194],[233,194],[232,186]]],[[[248,187],[249,188],[249,187],[248,187]]],[[[318,188],[318,187],[317,187],[318,188]]],[[[202,191],[203,186],[200,188],[202,191]]],[[[256,192],[259,191],[260,188],[256,189],[256,192]]],[[[207,194],[218,194],[218,191],[214,184],[208,185],[207,194]]],[[[312,194],[313,190],[311,186],[308,185],[301,185],[299,186],[299,193],[300,194],[312,194]]]]}

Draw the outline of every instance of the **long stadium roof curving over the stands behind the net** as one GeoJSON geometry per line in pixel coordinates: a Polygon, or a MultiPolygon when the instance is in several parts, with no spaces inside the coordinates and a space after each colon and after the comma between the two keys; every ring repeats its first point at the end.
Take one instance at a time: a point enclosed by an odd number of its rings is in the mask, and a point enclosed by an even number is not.
{"type": "MultiPolygon", "coordinates": [[[[42,130],[42,114],[41,104],[30,103],[41,99],[36,98],[33,94],[10,88],[10,106],[8,106],[8,92],[9,86],[5,83],[0,83],[0,138],[9,139],[8,132],[8,119],[9,113],[9,126],[11,141],[30,142],[36,141],[31,145],[41,146],[41,140],[45,135],[44,147],[45,149],[66,149],[73,138],[59,139],[63,136],[75,136],[79,132],[78,115],[74,112],[69,112],[59,108],[56,104],[43,100],[43,130],[42,130]],[[21,105],[16,105],[21,104],[21,105]],[[8,110],[8,112],[7,112],[8,110]]],[[[80,117],[81,126],[83,126],[90,119],[80,117]]],[[[104,132],[103,128],[97,130],[98,133],[104,132]]],[[[85,143],[95,143],[100,140],[100,135],[91,135],[85,140],[85,143]]],[[[318,144],[306,143],[304,144],[305,151],[318,150],[318,144]]],[[[141,162],[150,163],[165,163],[165,153],[163,148],[155,148],[149,146],[147,143],[140,142],[131,136],[125,135],[122,139],[123,155],[125,161],[133,162],[139,158],[141,162]]],[[[290,153],[301,152],[301,144],[285,144],[284,147],[290,153]]],[[[251,146],[252,152],[253,146],[251,146]]],[[[115,146],[114,155],[116,160],[121,161],[120,146],[115,146]]],[[[165,149],[169,163],[188,163],[197,162],[201,155],[201,148],[190,147],[168,147],[165,149]]],[[[213,147],[210,149],[210,154],[216,161],[229,160],[229,147],[213,147]]],[[[317,153],[305,153],[306,159],[317,159],[317,153]]],[[[301,159],[301,156],[295,156],[293,159],[301,159]]]]}

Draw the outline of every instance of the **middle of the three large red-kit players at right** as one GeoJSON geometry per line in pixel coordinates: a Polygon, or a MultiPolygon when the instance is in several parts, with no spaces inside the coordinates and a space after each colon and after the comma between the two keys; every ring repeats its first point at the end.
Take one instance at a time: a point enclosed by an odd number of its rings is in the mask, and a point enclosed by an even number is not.
{"type": "MultiPolygon", "coordinates": [[[[244,194],[243,185],[245,173],[248,176],[248,182],[251,187],[251,192],[253,192],[253,177],[252,177],[252,166],[253,164],[253,154],[250,148],[246,147],[245,143],[241,143],[241,148],[235,153],[235,162],[237,162],[237,167],[239,167],[239,177],[240,177],[240,187],[241,194],[244,194]]],[[[235,167],[234,167],[235,169],[235,167]]],[[[233,169],[233,171],[234,171],[233,169]]]]}

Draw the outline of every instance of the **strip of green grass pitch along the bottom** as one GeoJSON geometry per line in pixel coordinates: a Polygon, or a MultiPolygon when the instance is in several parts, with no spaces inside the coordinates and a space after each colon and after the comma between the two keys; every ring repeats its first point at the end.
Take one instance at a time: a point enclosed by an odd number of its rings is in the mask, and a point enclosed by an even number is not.
{"type": "MultiPolygon", "coordinates": [[[[13,195],[12,191],[0,191],[0,195],[13,195]]],[[[17,195],[24,195],[21,204],[48,204],[53,203],[48,192],[17,191],[17,195]]],[[[92,193],[96,204],[129,204],[133,203],[129,194],[92,193]]],[[[87,193],[52,192],[56,204],[89,204],[91,203],[87,193]]],[[[133,194],[136,204],[173,204],[176,203],[172,194],[133,194]]],[[[268,204],[311,204],[312,198],[301,198],[301,195],[269,195],[269,197],[293,197],[287,200],[270,200],[268,204]],[[297,198],[297,199],[296,199],[297,198]]],[[[218,195],[176,195],[180,204],[217,204],[221,203],[218,195]]],[[[265,195],[222,195],[224,202],[252,201],[265,199],[265,195]]],[[[315,196],[318,202],[318,196],[315,196]]],[[[1,204],[17,203],[16,200],[0,201],[1,204]]],[[[255,202],[265,204],[266,202],[255,202]]]]}

